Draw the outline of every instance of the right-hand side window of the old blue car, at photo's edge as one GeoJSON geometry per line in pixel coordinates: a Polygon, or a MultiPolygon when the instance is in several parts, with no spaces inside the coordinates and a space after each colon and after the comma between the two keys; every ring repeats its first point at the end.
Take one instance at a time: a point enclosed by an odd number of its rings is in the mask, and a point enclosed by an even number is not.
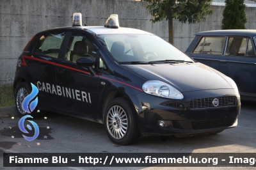
{"type": "Polygon", "coordinates": [[[255,57],[252,40],[248,37],[228,37],[226,56],[255,57]]]}

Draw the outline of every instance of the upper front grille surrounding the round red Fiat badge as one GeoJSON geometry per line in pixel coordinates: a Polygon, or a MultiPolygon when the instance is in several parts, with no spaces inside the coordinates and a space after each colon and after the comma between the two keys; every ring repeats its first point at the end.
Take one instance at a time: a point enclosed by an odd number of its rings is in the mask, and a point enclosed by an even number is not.
{"type": "Polygon", "coordinates": [[[219,100],[219,105],[214,106],[212,101],[214,98],[197,98],[190,100],[189,108],[190,109],[205,109],[205,108],[217,108],[217,107],[229,107],[236,106],[236,97],[215,97],[219,100]]]}

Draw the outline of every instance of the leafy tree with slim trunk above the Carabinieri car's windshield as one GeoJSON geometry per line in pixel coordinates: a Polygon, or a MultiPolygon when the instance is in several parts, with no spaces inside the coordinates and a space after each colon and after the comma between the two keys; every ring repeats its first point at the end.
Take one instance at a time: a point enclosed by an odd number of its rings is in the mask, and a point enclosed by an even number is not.
{"type": "Polygon", "coordinates": [[[182,23],[196,23],[205,20],[205,15],[212,14],[210,8],[211,0],[141,0],[147,2],[146,8],[156,23],[168,20],[169,42],[173,43],[173,19],[182,23]]]}

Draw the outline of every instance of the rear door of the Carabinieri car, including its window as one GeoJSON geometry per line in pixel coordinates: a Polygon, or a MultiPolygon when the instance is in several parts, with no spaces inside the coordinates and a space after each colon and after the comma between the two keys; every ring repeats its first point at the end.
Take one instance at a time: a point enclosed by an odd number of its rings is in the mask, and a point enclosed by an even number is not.
{"type": "Polygon", "coordinates": [[[29,73],[39,89],[38,104],[47,107],[54,107],[55,104],[56,95],[52,86],[56,85],[56,65],[65,35],[65,31],[43,33],[28,58],[29,73]]]}

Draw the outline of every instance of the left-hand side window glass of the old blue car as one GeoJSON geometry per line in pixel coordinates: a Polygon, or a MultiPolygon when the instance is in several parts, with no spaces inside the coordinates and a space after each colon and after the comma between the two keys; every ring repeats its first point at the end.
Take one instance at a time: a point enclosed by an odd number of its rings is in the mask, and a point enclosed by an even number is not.
{"type": "Polygon", "coordinates": [[[224,36],[203,36],[192,53],[221,55],[224,43],[224,36]]]}

